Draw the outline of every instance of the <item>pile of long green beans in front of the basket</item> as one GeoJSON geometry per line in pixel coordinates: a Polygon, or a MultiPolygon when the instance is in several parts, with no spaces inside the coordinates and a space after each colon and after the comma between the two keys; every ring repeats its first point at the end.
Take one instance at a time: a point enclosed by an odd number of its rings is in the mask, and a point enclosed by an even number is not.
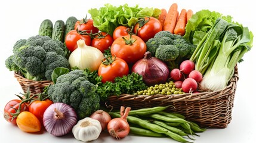
{"type": "MultiPolygon", "coordinates": [[[[186,120],[178,113],[169,113],[164,111],[166,107],[141,108],[129,111],[127,122],[130,126],[130,132],[133,135],[152,136],[152,137],[170,137],[178,142],[191,142],[198,132],[206,129],[201,128],[195,122],[186,120]],[[185,138],[187,136],[187,138],[185,138]]],[[[121,117],[119,112],[110,112],[112,118],[121,117]]]]}

